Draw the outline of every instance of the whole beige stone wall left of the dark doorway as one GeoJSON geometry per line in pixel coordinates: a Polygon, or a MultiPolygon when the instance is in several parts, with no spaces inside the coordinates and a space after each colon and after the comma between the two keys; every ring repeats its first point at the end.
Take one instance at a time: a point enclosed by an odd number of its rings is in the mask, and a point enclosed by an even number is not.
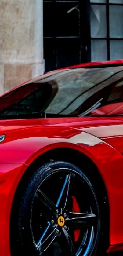
{"type": "Polygon", "coordinates": [[[43,0],[0,0],[0,94],[43,72],[43,0]]]}

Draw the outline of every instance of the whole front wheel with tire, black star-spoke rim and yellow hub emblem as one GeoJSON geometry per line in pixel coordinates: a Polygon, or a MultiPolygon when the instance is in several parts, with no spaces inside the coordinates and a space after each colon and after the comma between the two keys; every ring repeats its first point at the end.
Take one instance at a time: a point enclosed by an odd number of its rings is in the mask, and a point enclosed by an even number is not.
{"type": "Polygon", "coordinates": [[[12,256],[102,255],[102,233],[96,193],[78,167],[52,160],[20,183],[11,214],[12,256]]]}

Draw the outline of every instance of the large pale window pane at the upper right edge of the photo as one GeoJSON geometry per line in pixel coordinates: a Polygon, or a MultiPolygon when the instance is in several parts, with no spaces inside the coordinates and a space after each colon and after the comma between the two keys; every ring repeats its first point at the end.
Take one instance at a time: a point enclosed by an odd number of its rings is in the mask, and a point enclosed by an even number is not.
{"type": "Polygon", "coordinates": [[[123,38],[123,6],[111,5],[110,14],[110,37],[123,38]]]}

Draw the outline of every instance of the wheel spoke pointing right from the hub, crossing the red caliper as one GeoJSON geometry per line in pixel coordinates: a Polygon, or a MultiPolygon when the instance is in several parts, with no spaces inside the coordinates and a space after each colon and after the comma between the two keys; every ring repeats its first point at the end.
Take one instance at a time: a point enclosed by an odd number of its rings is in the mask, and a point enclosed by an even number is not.
{"type": "Polygon", "coordinates": [[[81,228],[95,225],[96,215],[93,213],[70,212],[66,225],[71,228],[81,228]]]}

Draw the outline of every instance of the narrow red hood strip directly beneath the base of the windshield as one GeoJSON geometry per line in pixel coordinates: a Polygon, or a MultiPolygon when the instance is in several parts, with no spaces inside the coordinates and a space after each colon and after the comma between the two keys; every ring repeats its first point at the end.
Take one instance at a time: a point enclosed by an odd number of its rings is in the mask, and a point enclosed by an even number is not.
{"type": "MultiPolygon", "coordinates": [[[[47,118],[47,119],[14,119],[0,120],[0,135],[22,129],[42,126],[69,126],[77,129],[94,127],[106,127],[109,125],[123,124],[123,118],[102,118],[102,117],[72,117],[72,118],[47,118]]],[[[89,129],[91,133],[91,129],[89,129]]]]}

